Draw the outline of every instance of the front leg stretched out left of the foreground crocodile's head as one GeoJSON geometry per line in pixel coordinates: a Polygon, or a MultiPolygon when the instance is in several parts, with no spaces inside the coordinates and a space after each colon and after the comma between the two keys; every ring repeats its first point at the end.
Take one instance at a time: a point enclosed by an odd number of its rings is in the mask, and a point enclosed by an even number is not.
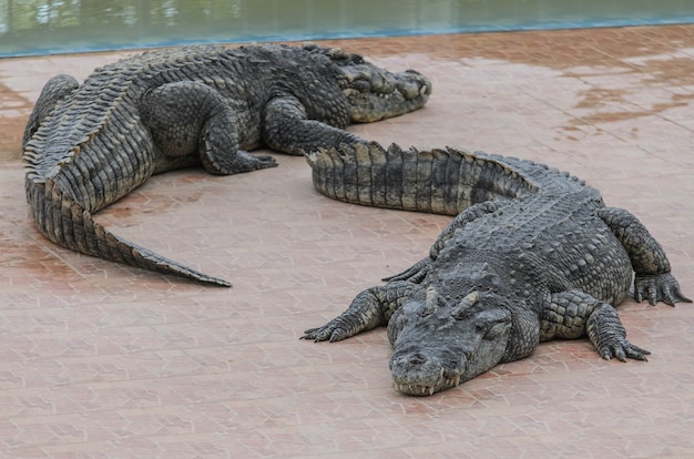
{"type": "Polygon", "coordinates": [[[392,282],[368,288],[355,297],[347,310],[323,327],[307,329],[302,339],[339,341],[388,324],[392,314],[422,288],[409,282],[392,282]]]}

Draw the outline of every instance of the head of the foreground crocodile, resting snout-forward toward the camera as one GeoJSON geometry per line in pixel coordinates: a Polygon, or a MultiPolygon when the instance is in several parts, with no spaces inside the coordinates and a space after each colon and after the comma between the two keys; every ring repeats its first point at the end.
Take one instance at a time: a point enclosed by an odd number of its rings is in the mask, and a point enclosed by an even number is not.
{"type": "Polygon", "coordinates": [[[432,395],[501,363],[512,317],[497,299],[494,294],[473,290],[448,305],[429,287],[425,302],[410,300],[397,309],[388,324],[396,390],[432,395]]]}

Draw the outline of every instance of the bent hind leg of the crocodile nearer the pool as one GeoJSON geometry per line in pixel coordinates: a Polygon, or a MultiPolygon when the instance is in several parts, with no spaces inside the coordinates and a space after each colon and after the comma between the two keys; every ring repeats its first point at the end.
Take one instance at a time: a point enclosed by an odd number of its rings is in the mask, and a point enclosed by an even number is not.
{"type": "Polygon", "coordinates": [[[206,84],[184,81],[155,88],[142,98],[140,114],[165,155],[156,172],[193,164],[198,159],[215,175],[277,165],[269,155],[239,150],[237,116],[206,84]]]}

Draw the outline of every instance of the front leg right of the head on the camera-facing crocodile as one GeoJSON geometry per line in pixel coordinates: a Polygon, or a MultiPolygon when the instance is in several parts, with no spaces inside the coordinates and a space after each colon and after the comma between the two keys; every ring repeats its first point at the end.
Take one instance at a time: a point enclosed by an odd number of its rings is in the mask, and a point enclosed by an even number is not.
{"type": "Polygon", "coordinates": [[[606,303],[580,290],[552,294],[542,310],[540,340],[574,339],[588,335],[600,356],[625,361],[646,360],[651,354],[626,340],[626,330],[616,310],[606,303]]]}

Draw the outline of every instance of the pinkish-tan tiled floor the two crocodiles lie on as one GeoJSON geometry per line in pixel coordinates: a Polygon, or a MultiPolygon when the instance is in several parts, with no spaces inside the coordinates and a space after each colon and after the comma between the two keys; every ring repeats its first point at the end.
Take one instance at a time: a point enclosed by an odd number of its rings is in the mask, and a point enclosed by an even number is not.
{"type": "MultiPolygon", "coordinates": [[[[426,109],[353,132],[569,170],[635,213],[694,295],[694,27],[339,44],[435,86],[426,109]]],[[[691,305],[619,308],[649,363],[555,341],[428,398],[391,388],[384,329],[300,341],[423,256],[449,221],[322,197],[300,157],[232,177],[165,174],[99,214],[233,289],[44,241],[23,196],[23,123],[49,76],[124,54],[0,61],[0,457],[694,456],[691,305]]]]}

